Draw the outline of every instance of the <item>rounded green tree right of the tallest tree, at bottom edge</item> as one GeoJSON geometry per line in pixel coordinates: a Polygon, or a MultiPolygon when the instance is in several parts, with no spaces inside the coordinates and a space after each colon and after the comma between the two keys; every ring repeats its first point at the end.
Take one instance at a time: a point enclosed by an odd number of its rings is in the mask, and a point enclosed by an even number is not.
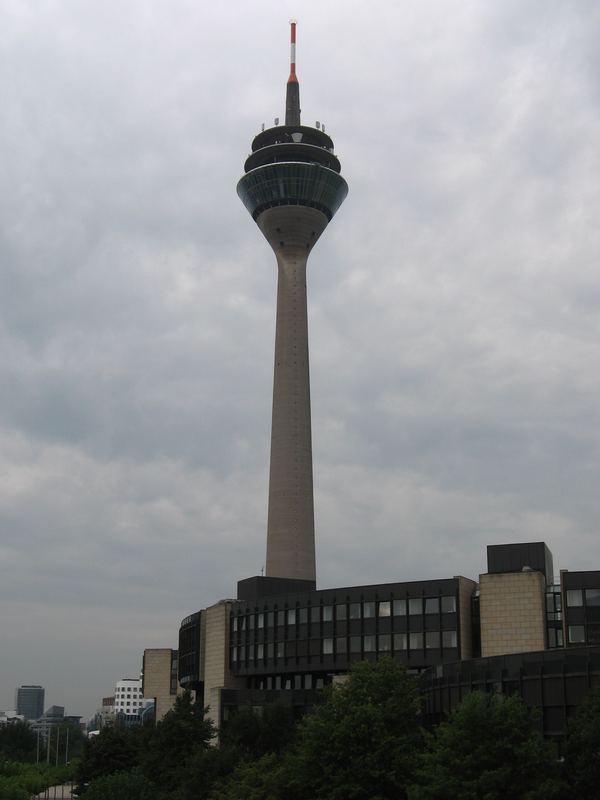
{"type": "Polygon", "coordinates": [[[554,748],[516,696],[473,692],[431,736],[410,800],[551,800],[561,784],[554,748]]]}

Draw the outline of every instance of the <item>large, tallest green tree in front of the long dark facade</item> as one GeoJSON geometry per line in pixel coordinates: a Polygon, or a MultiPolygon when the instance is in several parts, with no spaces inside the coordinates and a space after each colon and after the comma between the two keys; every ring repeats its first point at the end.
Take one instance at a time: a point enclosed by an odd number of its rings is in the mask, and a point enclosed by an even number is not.
{"type": "Polygon", "coordinates": [[[391,658],[356,664],[300,722],[284,764],[286,800],[405,798],[422,743],[419,708],[404,667],[391,658]]]}

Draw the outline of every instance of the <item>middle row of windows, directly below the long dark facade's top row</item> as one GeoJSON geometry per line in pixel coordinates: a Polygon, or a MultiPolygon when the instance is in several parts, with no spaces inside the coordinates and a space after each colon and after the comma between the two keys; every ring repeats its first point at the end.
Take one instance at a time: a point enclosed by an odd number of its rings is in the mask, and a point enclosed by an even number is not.
{"type": "MultiPolygon", "coordinates": [[[[439,650],[457,646],[456,631],[425,631],[424,633],[394,633],[379,636],[338,636],[313,639],[308,647],[310,655],[345,655],[346,653],[391,653],[407,650],[439,650]]],[[[286,658],[298,655],[296,642],[268,642],[267,644],[233,647],[231,660],[262,661],[265,658],[286,658]]]]}

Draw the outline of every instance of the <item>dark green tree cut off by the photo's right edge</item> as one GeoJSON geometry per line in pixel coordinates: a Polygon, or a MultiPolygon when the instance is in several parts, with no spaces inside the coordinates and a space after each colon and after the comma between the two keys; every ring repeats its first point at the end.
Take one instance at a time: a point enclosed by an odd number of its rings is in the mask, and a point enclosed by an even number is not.
{"type": "Polygon", "coordinates": [[[597,800],[600,787],[600,690],[590,692],[569,722],[565,777],[572,797],[597,800]]]}

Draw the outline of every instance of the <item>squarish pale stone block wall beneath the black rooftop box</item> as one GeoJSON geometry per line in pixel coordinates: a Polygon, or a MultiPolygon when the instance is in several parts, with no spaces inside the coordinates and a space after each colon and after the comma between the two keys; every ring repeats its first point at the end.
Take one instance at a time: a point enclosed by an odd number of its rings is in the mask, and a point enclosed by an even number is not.
{"type": "Polygon", "coordinates": [[[534,570],[479,576],[483,658],[546,649],[545,590],[534,570]]]}

